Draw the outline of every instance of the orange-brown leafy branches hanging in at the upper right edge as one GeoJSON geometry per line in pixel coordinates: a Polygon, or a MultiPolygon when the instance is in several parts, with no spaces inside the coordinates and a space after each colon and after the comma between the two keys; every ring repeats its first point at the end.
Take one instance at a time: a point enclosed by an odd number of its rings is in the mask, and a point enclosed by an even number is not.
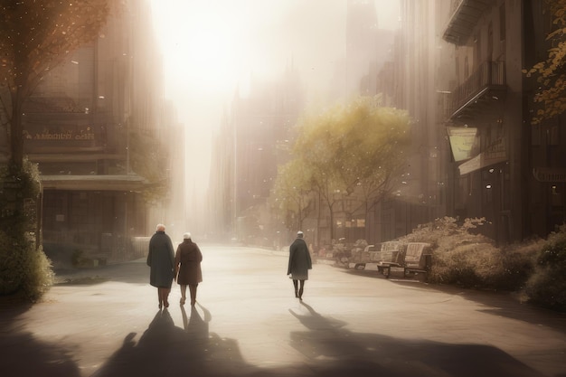
{"type": "Polygon", "coordinates": [[[546,0],[546,3],[553,29],[546,37],[551,46],[548,56],[523,71],[527,77],[534,75],[539,83],[533,99],[539,107],[533,116],[533,125],[566,111],[566,0],[546,0]]]}

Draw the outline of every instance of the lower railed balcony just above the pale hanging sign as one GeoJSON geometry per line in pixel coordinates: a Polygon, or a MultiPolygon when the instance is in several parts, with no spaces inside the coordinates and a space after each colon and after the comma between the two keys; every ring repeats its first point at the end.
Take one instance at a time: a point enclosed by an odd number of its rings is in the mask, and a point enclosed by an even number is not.
{"type": "Polygon", "coordinates": [[[486,102],[505,94],[505,61],[484,61],[470,77],[455,90],[449,99],[449,119],[462,118],[481,111],[486,102]]]}

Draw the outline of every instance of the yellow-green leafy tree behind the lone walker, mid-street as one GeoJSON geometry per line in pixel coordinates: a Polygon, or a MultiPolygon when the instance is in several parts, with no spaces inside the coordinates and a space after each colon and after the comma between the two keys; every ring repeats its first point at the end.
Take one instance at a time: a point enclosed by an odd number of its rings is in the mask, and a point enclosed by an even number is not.
{"type": "Polygon", "coordinates": [[[331,238],[336,204],[356,193],[355,197],[363,197],[367,217],[373,204],[391,192],[393,178],[406,162],[409,130],[405,111],[380,108],[368,97],[337,105],[299,124],[295,156],[328,208],[331,238]]]}

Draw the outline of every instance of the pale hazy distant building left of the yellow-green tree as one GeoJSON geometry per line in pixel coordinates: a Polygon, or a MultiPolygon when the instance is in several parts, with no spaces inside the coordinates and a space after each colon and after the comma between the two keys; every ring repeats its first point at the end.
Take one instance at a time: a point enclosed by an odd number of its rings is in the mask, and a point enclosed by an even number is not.
{"type": "Polygon", "coordinates": [[[274,81],[250,81],[236,91],[215,138],[211,172],[212,231],[221,239],[272,244],[284,231],[268,210],[278,165],[289,159],[293,127],[304,107],[303,90],[292,62],[274,81]]]}

